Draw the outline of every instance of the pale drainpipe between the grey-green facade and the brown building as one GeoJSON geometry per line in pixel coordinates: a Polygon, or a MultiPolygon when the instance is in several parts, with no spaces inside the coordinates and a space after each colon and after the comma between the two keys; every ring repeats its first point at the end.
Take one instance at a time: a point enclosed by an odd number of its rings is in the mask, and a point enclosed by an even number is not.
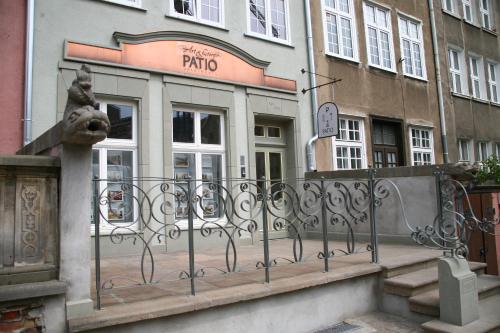
{"type": "MultiPolygon", "coordinates": [[[[311,25],[311,4],[309,0],[304,0],[304,11],[306,16],[306,34],[307,34],[307,60],[309,64],[309,84],[311,87],[316,86],[316,77],[314,76],[315,65],[314,65],[314,48],[312,39],[312,25],[311,25]]],[[[307,141],[306,144],[306,160],[307,160],[307,171],[316,170],[316,158],[314,153],[314,145],[318,139],[318,124],[317,124],[317,112],[318,112],[318,99],[316,96],[316,90],[310,90],[311,94],[311,105],[312,105],[312,121],[313,121],[313,132],[314,136],[307,141]]]]}

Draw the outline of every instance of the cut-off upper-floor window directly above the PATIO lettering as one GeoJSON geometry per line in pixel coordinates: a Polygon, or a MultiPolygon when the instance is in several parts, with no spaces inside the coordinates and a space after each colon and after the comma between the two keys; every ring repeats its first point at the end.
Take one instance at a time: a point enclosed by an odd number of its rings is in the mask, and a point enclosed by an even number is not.
{"type": "Polygon", "coordinates": [[[212,25],[223,25],[224,0],[170,0],[171,15],[212,25]]]}

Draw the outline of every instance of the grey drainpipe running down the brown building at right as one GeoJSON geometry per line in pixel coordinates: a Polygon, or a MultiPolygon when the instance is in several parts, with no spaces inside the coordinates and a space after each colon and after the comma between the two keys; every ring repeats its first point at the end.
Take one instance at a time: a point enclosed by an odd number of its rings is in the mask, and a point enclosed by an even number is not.
{"type": "Polygon", "coordinates": [[[436,83],[438,90],[439,100],[439,120],[441,122],[441,143],[443,145],[443,162],[449,163],[448,157],[448,139],[446,135],[446,118],[444,114],[444,100],[443,100],[443,82],[441,79],[441,63],[439,59],[439,48],[436,33],[436,17],[434,14],[434,0],[428,0],[429,15],[431,21],[431,34],[432,34],[432,48],[434,50],[434,65],[436,66],[436,83]]]}

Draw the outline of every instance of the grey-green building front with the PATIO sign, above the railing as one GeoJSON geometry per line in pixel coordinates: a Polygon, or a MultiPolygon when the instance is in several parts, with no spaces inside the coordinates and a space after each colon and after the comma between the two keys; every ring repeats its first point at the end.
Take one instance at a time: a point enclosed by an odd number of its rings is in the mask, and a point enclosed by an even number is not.
{"type": "MultiPolygon", "coordinates": [[[[75,70],[89,64],[112,125],[94,176],[303,176],[313,134],[309,96],[297,93],[309,84],[302,2],[42,1],[35,22],[33,137],[62,119],[75,70]]],[[[132,203],[108,190],[107,220],[127,222],[132,203]]]]}

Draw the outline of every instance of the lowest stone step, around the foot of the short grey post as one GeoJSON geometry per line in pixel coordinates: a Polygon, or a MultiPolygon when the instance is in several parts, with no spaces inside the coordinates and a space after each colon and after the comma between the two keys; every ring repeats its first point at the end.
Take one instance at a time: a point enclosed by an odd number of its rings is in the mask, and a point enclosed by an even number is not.
{"type": "Polygon", "coordinates": [[[500,295],[479,302],[479,319],[465,326],[455,326],[439,319],[422,324],[426,333],[492,333],[500,332],[500,295]]]}

